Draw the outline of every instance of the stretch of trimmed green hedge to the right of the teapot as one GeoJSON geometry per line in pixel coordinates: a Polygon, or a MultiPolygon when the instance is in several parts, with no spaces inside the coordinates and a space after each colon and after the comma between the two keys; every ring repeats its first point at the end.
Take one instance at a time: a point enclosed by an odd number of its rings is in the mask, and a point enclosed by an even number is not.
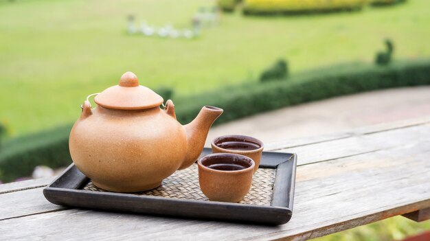
{"type": "Polygon", "coordinates": [[[338,65],[288,76],[288,81],[254,82],[202,93],[175,102],[177,117],[188,123],[201,106],[224,109],[217,124],[328,97],[376,89],[430,84],[430,60],[394,61],[377,66],[365,63],[338,65]]]}

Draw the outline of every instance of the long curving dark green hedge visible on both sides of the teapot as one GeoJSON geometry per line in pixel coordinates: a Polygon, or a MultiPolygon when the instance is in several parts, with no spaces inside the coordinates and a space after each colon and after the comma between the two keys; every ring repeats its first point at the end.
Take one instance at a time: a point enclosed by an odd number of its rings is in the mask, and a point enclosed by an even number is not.
{"type": "MultiPolygon", "coordinates": [[[[200,95],[174,99],[179,122],[185,124],[204,105],[224,109],[216,124],[284,106],[362,91],[430,84],[430,60],[394,61],[377,66],[339,65],[288,76],[288,81],[248,82],[200,95]]],[[[71,126],[19,137],[0,152],[0,180],[30,175],[36,165],[52,168],[71,163],[68,137],[71,126]]]]}

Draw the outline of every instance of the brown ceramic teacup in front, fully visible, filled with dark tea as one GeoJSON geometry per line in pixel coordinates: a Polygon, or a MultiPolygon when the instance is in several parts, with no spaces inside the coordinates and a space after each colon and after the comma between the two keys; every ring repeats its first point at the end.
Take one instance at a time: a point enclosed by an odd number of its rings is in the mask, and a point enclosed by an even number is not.
{"type": "Polygon", "coordinates": [[[208,154],[197,162],[200,189],[210,200],[238,203],[251,188],[254,161],[240,154],[208,154]]]}

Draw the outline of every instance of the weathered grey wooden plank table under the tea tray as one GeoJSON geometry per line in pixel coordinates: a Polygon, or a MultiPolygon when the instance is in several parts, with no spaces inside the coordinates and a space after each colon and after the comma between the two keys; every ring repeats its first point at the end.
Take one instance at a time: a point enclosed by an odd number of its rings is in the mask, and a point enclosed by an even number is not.
{"type": "Polygon", "coordinates": [[[267,149],[298,154],[295,207],[286,225],[70,209],[44,198],[49,178],[0,185],[0,240],[307,240],[396,215],[430,216],[430,118],[267,149]]]}

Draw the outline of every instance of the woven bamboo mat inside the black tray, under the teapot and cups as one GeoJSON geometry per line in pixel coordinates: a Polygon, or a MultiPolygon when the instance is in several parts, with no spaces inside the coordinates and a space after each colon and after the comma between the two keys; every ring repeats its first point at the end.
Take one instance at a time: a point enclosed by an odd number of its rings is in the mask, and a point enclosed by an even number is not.
{"type": "MultiPolygon", "coordinates": [[[[252,179],[251,190],[239,203],[270,206],[275,183],[275,169],[259,168],[252,179]]],[[[96,187],[91,181],[83,190],[108,192],[96,187]]],[[[209,200],[199,187],[199,173],[197,164],[190,168],[174,172],[172,176],[163,180],[161,186],[154,190],[134,193],[136,195],[162,196],[166,198],[182,198],[192,200],[209,200]]]]}

